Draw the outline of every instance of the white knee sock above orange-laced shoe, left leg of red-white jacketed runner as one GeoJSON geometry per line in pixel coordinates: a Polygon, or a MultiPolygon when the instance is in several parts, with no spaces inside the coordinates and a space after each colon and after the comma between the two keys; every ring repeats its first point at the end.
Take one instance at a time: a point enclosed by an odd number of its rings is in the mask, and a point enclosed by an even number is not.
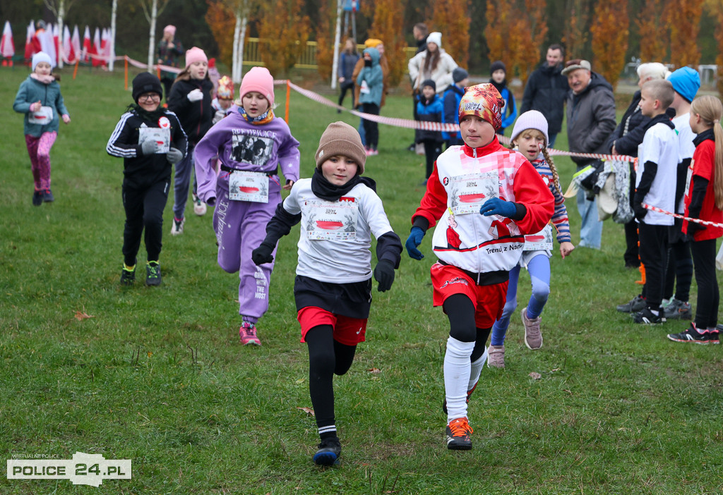
{"type": "Polygon", "coordinates": [[[467,417],[467,385],[471,373],[469,357],[473,350],[474,342],[462,342],[453,337],[447,339],[444,364],[447,422],[467,417]]]}

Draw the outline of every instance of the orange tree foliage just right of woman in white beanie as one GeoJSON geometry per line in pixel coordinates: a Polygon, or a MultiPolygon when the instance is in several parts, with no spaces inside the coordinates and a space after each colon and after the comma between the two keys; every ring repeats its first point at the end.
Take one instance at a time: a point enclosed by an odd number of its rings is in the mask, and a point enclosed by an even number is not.
{"type": "Polygon", "coordinates": [[[435,9],[432,25],[442,33],[445,51],[459,66],[469,64],[470,0],[448,0],[442,9],[435,9]]]}

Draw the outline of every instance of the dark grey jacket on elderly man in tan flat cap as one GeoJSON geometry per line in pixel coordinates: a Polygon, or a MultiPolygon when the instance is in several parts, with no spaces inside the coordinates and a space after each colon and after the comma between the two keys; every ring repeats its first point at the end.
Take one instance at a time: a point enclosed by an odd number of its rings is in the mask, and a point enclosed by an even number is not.
{"type": "MultiPolygon", "coordinates": [[[[609,153],[607,138],[615,131],[615,97],[612,86],[600,74],[591,73],[590,83],[576,95],[568,93],[568,146],[571,152],[609,153]]],[[[572,157],[578,166],[592,158],[572,157]]]]}

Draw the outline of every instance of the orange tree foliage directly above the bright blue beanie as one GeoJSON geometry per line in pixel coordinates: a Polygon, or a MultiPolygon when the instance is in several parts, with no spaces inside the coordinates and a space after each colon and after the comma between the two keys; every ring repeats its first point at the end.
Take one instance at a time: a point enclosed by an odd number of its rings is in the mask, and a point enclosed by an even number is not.
{"type": "Polygon", "coordinates": [[[703,0],[669,0],[667,25],[670,27],[670,63],[676,67],[697,66],[701,60],[698,31],[703,0]]]}

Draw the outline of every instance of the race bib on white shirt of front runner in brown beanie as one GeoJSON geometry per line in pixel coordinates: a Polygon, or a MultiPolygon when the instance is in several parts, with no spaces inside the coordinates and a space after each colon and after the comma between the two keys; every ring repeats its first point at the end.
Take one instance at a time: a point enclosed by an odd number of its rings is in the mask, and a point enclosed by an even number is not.
{"type": "Polygon", "coordinates": [[[309,240],[352,240],[356,238],[359,206],[356,201],[308,201],[304,227],[309,240]]]}

